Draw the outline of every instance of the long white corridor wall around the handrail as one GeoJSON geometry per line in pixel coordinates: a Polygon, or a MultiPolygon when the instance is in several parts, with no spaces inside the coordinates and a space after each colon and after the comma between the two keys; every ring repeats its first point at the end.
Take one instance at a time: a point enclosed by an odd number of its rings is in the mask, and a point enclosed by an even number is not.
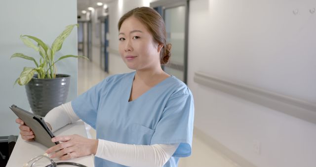
{"type": "Polygon", "coordinates": [[[316,103],[313,7],[315,0],[190,1],[195,127],[258,167],[315,167],[316,125],[199,85],[194,73],[316,103]]]}

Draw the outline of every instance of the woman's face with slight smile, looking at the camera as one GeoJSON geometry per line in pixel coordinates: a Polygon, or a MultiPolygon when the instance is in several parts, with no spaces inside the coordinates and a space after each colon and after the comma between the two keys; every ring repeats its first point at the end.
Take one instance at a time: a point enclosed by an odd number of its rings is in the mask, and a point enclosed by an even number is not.
{"type": "Polygon", "coordinates": [[[131,16],[121,25],[118,34],[118,50],[127,67],[133,70],[150,70],[160,67],[159,54],[162,44],[138,19],[131,16]]]}

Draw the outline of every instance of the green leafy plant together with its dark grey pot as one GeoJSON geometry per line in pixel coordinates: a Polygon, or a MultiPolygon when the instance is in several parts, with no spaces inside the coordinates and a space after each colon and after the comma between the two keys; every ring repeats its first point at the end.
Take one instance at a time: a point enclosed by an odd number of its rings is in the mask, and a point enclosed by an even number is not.
{"type": "Polygon", "coordinates": [[[20,57],[34,61],[36,65],[35,67],[24,67],[14,84],[25,85],[31,109],[37,115],[45,116],[48,111],[66,102],[70,76],[57,74],[55,64],[68,57],[86,58],[85,56],[64,55],[55,60],[55,53],[62,48],[63,42],[75,26],[78,24],[68,25],[51,47],[36,37],[21,35],[20,39],[26,46],[32,47],[40,53],[39,61],[23,53],[11,55],[11,58],[20,57]]]}

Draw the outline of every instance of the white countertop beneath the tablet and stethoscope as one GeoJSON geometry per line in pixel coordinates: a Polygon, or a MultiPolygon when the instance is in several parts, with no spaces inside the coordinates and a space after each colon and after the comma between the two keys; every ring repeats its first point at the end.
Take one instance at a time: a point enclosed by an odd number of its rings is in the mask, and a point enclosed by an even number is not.
{"type": "MultiPolygon", "coordinates": [[[[79,134],[81,136],[86,137],[85,126],[82,121],[78,121],[75,124],[67,125],[56,132],[54,132],[55,136],[59,135],[71,135],[71,134],[79,134]]],[[[19,135],[18,140],[14,146],[10,159],[6,165],[6,167],[23,167],[25,163],[27,163],[32,158],[44,154],[44,152],[48,148],[41,145],[36,141],[25,141],[19,135]]],[[[61,162],[58,159],[54,159],[55,162],[61,162]]],[[[93,155],[75,158],[68,161],[62,162],[76,162],[87,167],[94,167],[94,157],[93,155]]],[[[63,167],[74,167],[74,166],[63,166],[63,167]]]]}

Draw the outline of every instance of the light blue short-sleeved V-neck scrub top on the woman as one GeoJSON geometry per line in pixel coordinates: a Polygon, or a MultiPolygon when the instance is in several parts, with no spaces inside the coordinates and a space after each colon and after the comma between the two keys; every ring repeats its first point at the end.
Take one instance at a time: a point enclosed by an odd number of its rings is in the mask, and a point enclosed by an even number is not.
{"type": "MultiPolygon", "coordinates": [[[[72,101],[75,113],[97,138],[124,144],[179,147],[163,167],[191,155],[194,101],[185,83],[171,76],[128,102],[135,72],[106,78],[72,101]]],[[[95,157],[95,167],[125,167],[95,157]]]]}

